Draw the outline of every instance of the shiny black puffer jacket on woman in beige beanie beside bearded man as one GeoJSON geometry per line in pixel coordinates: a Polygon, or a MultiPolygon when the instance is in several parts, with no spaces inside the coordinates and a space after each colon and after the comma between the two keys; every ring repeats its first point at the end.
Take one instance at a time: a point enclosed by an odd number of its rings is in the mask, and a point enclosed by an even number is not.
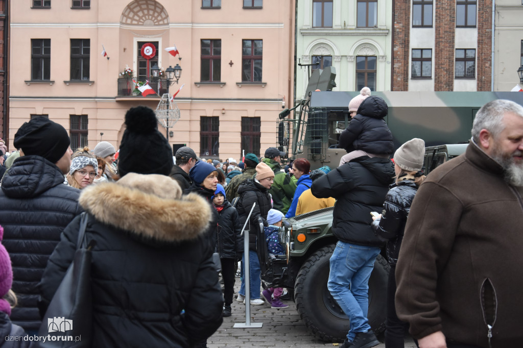
{"type": "Polygon", "coordinates": [[[418,190],[412,180],[403,180],[393,184],[385,196],[381,219],[376,219],[372,227],[376,233],[389,241],[386,253],[389,263],[395,265],[400,254],[401,241],[405,232],[408,213],[411,211],[412,200],[418,190]]]}

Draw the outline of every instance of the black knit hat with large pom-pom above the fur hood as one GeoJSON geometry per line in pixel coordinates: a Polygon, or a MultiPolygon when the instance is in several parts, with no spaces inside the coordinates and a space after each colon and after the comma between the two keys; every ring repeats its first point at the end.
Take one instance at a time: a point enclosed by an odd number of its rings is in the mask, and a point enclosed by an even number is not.
{"type": "Polygon", "coordinates": [[[123,132],[118,155],[119,175],[127,173],[169,175],[173,168],[173,150],[158,132],[156,115],[139,106],[126,113],[127,129],[123,132]]]}

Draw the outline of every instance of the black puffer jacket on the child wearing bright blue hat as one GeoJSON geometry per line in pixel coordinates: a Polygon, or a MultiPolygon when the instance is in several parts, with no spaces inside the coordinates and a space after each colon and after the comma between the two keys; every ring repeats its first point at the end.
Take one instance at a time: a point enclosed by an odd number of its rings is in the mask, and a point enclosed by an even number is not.
{"type": "Polygon", "coordinates": [[[243,253],[243,236],[240,218],[236,208],[228,200],[223,202],[223,209],[218,212],[218,243],[221,258],[241,260],[243,253]]]}

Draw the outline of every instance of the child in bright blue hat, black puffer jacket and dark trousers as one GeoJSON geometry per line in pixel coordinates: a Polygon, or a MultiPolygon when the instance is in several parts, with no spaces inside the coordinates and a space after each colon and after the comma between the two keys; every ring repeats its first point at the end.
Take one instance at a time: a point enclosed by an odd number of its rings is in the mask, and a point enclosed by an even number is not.
{"type": "Polygon", "coordinates": [[[225,199],[225,190],[218,184],[212,203],[218,211],[218,236],[216,248],[220,253],[222,263],[222,278],[224,285],[225,307],[223,316],[231,316],[232,297],[234,295],[234,266],[242,259],[243,237],[240,235],[242,226],[236,208],[225,199]]]}

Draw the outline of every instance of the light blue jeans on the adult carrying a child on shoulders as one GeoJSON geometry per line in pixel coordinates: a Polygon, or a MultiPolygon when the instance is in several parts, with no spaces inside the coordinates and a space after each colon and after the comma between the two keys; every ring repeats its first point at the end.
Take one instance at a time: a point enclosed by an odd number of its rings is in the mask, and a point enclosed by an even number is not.
{"type": "Polygon", "coordinates": [[[327,288],[350,319],[347,339],[351,342],[356,332],[370,330],[369,278],[379,253],[379,247],[338,241],[330,260],[327,288]]]}

